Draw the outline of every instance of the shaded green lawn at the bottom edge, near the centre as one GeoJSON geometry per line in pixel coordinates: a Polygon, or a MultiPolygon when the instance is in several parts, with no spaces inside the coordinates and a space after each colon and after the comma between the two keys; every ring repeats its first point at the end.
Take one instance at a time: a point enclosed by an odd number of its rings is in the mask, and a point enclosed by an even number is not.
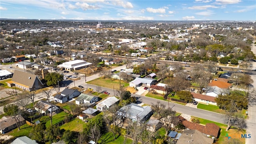
{"type": "MultiPolygon", "coordinates": [[[[116,135],[118,136],[118,135],[116,135]]],[[[111,132],[108,132],[106,134],[103,134],[100,137],[100,140],[98,140],[98,143],[102,144],[124,144],[125,137],[124,136],[118,136],[116,140],[114,140],[113,134],[111,132]]],[[[131,144],[132,140],[130,138],[127,138],[125,144],[131,144]]]]}

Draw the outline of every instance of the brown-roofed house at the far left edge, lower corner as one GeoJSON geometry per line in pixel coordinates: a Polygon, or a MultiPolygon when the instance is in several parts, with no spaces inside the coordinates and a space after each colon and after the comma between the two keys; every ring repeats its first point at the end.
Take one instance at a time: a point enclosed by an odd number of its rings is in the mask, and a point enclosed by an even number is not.
{"type": "Polygon", "coordinates": [[[3,116],[0,119],[0,133],[4,134],[10,130],[13,130],[14,128],[17,128],[16,121],[18,122],[17,124],[19,126],[25,124],[25,119],[21,115],[3,116]]]}

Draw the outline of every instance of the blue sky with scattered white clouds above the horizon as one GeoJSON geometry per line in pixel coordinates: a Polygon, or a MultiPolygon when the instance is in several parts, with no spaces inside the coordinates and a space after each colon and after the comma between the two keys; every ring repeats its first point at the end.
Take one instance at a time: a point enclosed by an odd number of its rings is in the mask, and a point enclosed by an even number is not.
{"type": "Polygon", "coordinates": [[[256,0],[0,0],[0,18],[256,20],[256,0]]]}

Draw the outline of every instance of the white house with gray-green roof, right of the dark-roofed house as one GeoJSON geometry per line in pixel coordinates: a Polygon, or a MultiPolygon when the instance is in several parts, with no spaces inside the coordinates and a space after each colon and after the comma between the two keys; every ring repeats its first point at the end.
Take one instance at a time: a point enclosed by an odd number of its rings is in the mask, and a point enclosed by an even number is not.
{"type": "Polygon", "coordinates": [[[76,104],[86,106],[86,107],[94,105],[95,102],[98,102],[98,101],[99,101],[99,97],[91,96],[88,94],[80,94],[76,98],[76,104]]]}

